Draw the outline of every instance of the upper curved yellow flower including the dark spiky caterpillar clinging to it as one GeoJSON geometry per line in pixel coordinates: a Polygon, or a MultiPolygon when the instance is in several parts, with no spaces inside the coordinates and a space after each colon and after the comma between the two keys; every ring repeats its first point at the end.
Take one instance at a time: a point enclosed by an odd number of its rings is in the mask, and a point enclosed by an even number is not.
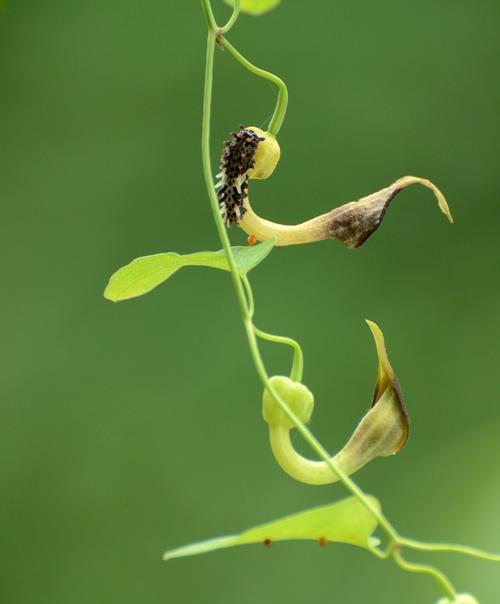
{"type": "Polygon", "coordinates": [[[387,208],[396,195],[412,184],[431,189],[438,205],[453,222],[444,195],[430,180],[404,176],[388,187],[345,203],[326,214],[297,225],[270,222],[258,216],[250,205],[248,181],[268,178],[280,158],[276,138],[254,126],[241,126],[225,142],[216,187],[221,214],[227,226],[237,224],[257,241],[274,238],[275,245],[297,245],[324,239],[337,239],[348,248],[362,245],[380,226],[387,208]]]}

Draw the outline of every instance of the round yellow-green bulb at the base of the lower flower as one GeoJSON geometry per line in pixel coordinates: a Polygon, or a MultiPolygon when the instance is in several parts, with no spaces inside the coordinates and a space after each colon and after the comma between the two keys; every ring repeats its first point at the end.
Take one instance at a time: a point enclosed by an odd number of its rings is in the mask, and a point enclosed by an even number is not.
{"type": "MultiPolygon", "coordinates": [[[[314,396],[307,386],[284,375],[273,376],[269,383],[302,422],[307,423],[311,419],[314,396]]],[[[270,426],[281,425],[288,430],[293,427],[293,422],[281,410],[267,388],[262,397],[262,415],[270,426]]]]}

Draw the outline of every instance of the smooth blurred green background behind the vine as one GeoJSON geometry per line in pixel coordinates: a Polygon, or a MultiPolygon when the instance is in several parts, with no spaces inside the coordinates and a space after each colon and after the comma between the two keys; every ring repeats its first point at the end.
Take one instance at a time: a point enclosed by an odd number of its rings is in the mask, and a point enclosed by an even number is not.
{"type": "MultiPolygon", "coordinates": [[[[412,438],[359,483],[404,534],[496,551],[499,17],[496,0],[284,0],[230,34],[290,89],[279,169],[252,184],[258,212],[297,222],[405,174],[447,195],[453,227],[412,187],[357,251],[276,250],[252,273],[256,320],[302,343],[312,427],[332,451],[369,405],[363,319],[377,321],[412,438]]],[[[196,0],[11,0],[0,15],[0,601],[432,603],[430,579],[348,546],[161,560],[345,494],[274,463],[226,273],[102,297],[135,256],[220,247],[200,166],[205,37],[196,0]]],[[[228,132],[265,125],[275,99],[216,58],[214,171],[228,132]]],[[[265,356],[287,370],[286,350],[265,356]]],[[[436,561],[498,602],[498,566],[436,561]]]]}

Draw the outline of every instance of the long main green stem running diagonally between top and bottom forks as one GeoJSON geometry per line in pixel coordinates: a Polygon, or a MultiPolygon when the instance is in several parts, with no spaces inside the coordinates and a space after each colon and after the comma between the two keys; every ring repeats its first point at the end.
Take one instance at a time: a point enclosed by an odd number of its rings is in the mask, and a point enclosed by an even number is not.
{"type": "MultiPolygon", "coordinates": [[[[208,3],[208,0],[202,0],[204,3],[208,3]]],[[[215,220],[215,225],[217,227],[217,232],[219,234],[219,238],[224,248],[224,252],[226,254],[229,267],[231,269],[231,278],[233,281],[234,289],[236,291],[236,297],[238,299],[238,304],[240,306],[241,315],[243,318],[243,323],[245,326],[245,330],[247,333],[248,343],[250,346],[250,351],[253,357],[253,361],[255,367],[257,369],[257,373],[264,385],[271,394],[271,396],[275,399],[277,404],[283,410],[285,415],[293,422],[297,430],[302,434],[304,439],[309,443],[313,451],[315,451],[321,459],[323,459],[327,465],[330,467],[332,472],[336,474],[340,481],[344,484],[344,486],[355,495],[360,502],[366,507],[366,509],[373,514],[373,516],[378,520],[380,526],[386,531],[389,537],[396,541],[398,534],[394,527],[391,525],[389,520],[383,515],[383,513],[378,510],[368,499],[365,493],[358,487],[358,485],[349,478],[342,470],[340,470],[335,463],[332,462],[331,456],[328,452],[323,448],[320,442],[313,436],[313,434],[309,431],[309,429],[303,424],[299,418],[292,413],[288,405],[283,401],[283,399],[278,395],[275,388],[271,384],[269,384],[269,376],[267,375],[266,368],[260,356],[259,347],[257,345],[256,335],[254,333],[254,326],[252,323],[252,319],[250,316],[250,309],[248,308],[247,301],[245,298],[245,291],[243,289],[242,281],[240,275],[237,271],[236,264],[234,261],[233,251],[231,249],[231,244],[229,242],[229,238],[227,236],[227,231],[222,221],[220,215],[219,202],[217,200],[217,195],[215,193],[214,181],[211,174],[211,158],[210,158],[210,116],[211,116],[211,106],[212,106],[212,84],[213,84],[213,64],[214,64],[214,49],[216,42],[217,32],[216,30],[210,30],[208,33],[207,39],[207,55],[206,55],[206,67],[205,67],[205,88],[204,88],[204,98],[203,98],[203,126],[202,126],[202,158],[203,158],[203,174],[205,177],[205,183],[207,186],[207,192],[210,199],[210,205],[212,208],[213,217],[215,220]]],[[[272,76],[275,78],[276,76],[272,76]]],[[[279,79],[279,78],[278,78],[279,79]]],[[[284,86],[284,84],[283,84],[284,86]]],[[[286,90],[286,87],[285,87],[286,90]]]]}

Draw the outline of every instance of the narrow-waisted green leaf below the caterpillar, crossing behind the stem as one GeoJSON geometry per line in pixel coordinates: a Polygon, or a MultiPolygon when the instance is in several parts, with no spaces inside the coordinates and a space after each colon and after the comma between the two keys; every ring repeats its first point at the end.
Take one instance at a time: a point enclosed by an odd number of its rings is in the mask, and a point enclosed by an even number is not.
{"type": "MultiPolygon", "coordinates": [[[[231,248],[239,273],[245,274],[255,268],[271,252],[273,246],[274,239],[271,239],[254,246],[231,248]]],[[[104,297],[119,302],[142,296],[166,281],[183,266],[208,266],[223,271],[230,270],[224,250],[185,255],[168,252],[141,256],[111,276],[104,290],[104,297]]]]}

